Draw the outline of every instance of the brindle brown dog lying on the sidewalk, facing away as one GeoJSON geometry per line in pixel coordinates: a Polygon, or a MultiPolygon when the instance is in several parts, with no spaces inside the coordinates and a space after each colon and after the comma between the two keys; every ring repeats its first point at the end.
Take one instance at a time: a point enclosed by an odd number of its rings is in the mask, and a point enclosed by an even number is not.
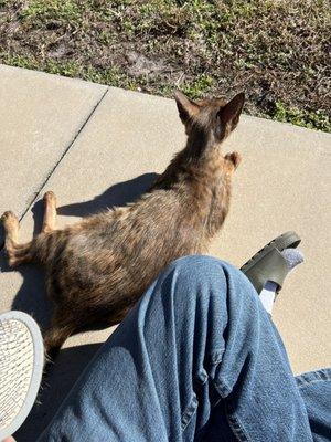
{"type": "Polygon", "coordinates": [[[19,244],[19,221],[2,215],[9,264],[45,266],[54,301],[45,348],[55,356],[64,340],[83,328],[120,322],[171,261],[206,251],[228,212],[237,152],[220,145],[236,127],[244,94],[225,104],[194,103],[175,95],[188,143],[151,189],[137,202],[55,230],[56,201],[44,196],[42,232],[19,244]]]}

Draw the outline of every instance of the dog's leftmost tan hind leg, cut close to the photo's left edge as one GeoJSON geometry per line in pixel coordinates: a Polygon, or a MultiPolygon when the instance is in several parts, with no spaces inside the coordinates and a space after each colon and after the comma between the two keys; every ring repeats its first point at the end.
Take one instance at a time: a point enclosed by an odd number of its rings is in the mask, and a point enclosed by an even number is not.
{"type": "Polygon", "coordinates": [[[19,219],[13,212],[4,212],[1,217],[4,228],[4,248],[9,265],[14,267],[32,261],[31,242],[19,244],[19,219]]]}

